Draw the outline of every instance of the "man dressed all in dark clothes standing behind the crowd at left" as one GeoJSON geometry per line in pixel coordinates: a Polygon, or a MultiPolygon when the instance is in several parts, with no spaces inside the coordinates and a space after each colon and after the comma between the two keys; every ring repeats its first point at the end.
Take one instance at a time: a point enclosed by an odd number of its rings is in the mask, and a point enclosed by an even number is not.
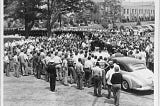
{"type": "Polygon", "coordinates": [[[57,73],[56,73],[56,64],[51,60],[48,63],[48,67],[47,67],[47,72],[50,75],[50,90],[52,92],[55,92],[55,86],[56,86],[56,77],[57,77],[57,73]]]}

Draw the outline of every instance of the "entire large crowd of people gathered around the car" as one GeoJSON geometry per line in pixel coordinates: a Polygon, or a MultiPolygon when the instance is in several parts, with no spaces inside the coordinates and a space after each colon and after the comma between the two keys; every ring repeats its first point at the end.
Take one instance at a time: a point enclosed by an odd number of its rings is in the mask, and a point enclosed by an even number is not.
{"type": "Polygon", "coordinates": [[[91,37],[73,33],[29,37],[4,44],[4,73],[9,77],[12,72],[17,78],[34,75],[42,79],[44,76],[47,82],[50,81],[51,91],[55,91],[56,81],[63,82],[65,86],[77,83],[80,90],[94,86],[95,96],[101,96],[101,89],[108,88],[108,98],[113,86],[118,106],[122,76],[120,67],[111,57],[137,58],[154,71],[153,50],[154,45],[149,38],[119,33],[95,32],[91,37]],[[95,38],[104,43],[103,50],[101,47],[94,47],[94,52],[91,50],[95,38]],[[107,56],[102,55],[104,51],[107,56]],[[53,72],[54,69],[56,71],[53,72]]]}

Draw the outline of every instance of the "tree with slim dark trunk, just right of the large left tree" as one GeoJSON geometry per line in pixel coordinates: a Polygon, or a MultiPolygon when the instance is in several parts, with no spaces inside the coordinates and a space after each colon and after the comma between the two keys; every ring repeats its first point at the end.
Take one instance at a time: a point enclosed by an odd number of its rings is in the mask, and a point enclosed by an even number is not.
{"type": "Polygon", "coordinates": [[[47,0],[47,28],[51,34],[53,24],[58,20],[61,26],[61,17],[68,13],[77,13],[81,10],[81,0],[47,0]]]}

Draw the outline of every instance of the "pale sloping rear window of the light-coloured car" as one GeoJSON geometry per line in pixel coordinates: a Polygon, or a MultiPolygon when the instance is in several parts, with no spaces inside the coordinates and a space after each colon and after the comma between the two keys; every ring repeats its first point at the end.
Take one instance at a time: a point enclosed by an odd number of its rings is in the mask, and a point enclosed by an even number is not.
{"type": "Polygon", "coordinates": [[[129,64],[129,67],[133,71],[138,71],[138,70],[146,69],[146,66],[145,66],[144,63],[129,64]]]}

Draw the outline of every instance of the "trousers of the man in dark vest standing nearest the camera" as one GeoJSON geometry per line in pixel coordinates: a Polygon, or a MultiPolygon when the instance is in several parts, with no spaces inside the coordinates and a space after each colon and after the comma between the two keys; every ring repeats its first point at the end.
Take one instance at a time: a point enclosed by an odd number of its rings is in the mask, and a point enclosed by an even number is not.
{"type": "Polygon", "coordinates": [[[121,84],[113,84],[113,95],[114,95],[114,104],[116,106],[119,106],[119,98],[120,98],[120,90],[121,90],[121,84]]]}

